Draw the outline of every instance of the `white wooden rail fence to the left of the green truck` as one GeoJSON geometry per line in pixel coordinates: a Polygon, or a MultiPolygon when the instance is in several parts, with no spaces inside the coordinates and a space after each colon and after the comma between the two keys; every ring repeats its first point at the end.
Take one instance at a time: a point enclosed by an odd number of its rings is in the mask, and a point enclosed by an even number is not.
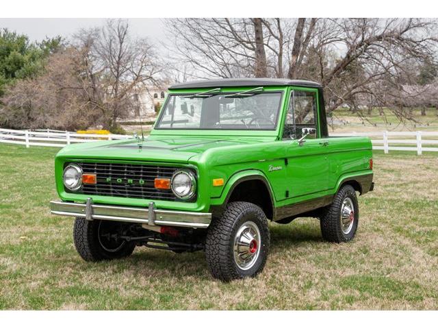
{"type": "Polygon", "coordinates": [[[73,143],[132,138],[129,135],[116,134],[77,134],[76,132],[61,132],[60,130],[12,130],[0,128],[0,143],[21,144],[30,147],[53,146],[64,147],[73,143]]]}

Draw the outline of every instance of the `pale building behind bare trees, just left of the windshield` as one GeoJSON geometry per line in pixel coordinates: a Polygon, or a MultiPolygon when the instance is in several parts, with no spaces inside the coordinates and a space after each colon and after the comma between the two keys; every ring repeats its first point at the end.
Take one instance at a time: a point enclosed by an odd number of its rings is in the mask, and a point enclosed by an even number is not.
{"type": "Polygon", "coordinates": [[[134,101],[138,101],[137,108],[132,117],[138,117],[139,111],[142,117],[153,117],[157,110],[164,104],[168,93],[168,85],[162,86],[147,86],[140,90],[140,93],[133,95],[134,101]]]}

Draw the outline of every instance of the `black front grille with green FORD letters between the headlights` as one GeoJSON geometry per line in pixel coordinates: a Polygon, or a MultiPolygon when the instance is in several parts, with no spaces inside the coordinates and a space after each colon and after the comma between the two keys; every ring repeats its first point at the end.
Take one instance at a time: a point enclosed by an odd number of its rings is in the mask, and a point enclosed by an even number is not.
{"type": "Polygon", "coordinates": [[[75,162],[83,173],[95,173],[96,184],[84,184],[76,193],[138,199],[176,200],[171,190],[154,187],[155,178],[172,178],[177,167],[144,164],[75,162]]]}

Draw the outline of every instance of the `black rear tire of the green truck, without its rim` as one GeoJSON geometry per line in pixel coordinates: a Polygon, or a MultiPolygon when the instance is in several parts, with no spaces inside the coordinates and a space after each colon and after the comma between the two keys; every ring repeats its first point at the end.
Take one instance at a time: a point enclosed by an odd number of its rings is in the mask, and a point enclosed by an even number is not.
{"type": "Polygon", "coordinates": [[[320,226],[324,240],[329,242],[341,243],[352,240],[355,237],[359,224],[359,204],[355,189],[351,185],[344,185],[339,188],[333,203],[321,212],[320,226]],[[354,206],[354,220],[348,234],[342,230],[340,221],[342,204],[346,198],[350,198],[354,206]]]}

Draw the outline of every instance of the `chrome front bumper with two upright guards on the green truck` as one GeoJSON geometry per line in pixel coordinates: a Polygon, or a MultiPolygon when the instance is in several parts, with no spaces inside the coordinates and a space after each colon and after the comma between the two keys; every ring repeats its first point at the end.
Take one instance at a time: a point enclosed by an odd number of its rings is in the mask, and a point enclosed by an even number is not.
{"type": "Polygon", "coordinates": [[[92,221],[126,221],[157,226],[180,226],[184,228],[207,228],[211,221],[209,212],[189,212],[155,209],[153,202],[149,208],[134,208],[124,206],[107,206],[93,204],[88,198],[86,204],[73,202],[51,201],[50,211],[53,215],[81,217],[92,221]]]}

